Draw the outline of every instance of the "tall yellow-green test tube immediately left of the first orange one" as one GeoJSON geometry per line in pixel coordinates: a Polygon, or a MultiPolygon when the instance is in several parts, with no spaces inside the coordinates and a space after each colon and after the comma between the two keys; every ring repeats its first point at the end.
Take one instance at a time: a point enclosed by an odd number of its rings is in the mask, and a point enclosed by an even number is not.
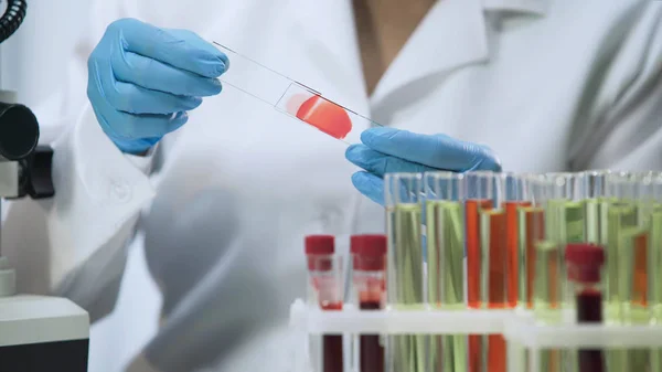
{"type": "MultiPolygon", "coordinates": [[[[433,309],[461,310],[465,301],[465,176],[453,172],[425,174],[427,226],[427,300],[433,309]]],[[[431,372],[468,372],[467,337],[430,338],[431,372]]]]}

